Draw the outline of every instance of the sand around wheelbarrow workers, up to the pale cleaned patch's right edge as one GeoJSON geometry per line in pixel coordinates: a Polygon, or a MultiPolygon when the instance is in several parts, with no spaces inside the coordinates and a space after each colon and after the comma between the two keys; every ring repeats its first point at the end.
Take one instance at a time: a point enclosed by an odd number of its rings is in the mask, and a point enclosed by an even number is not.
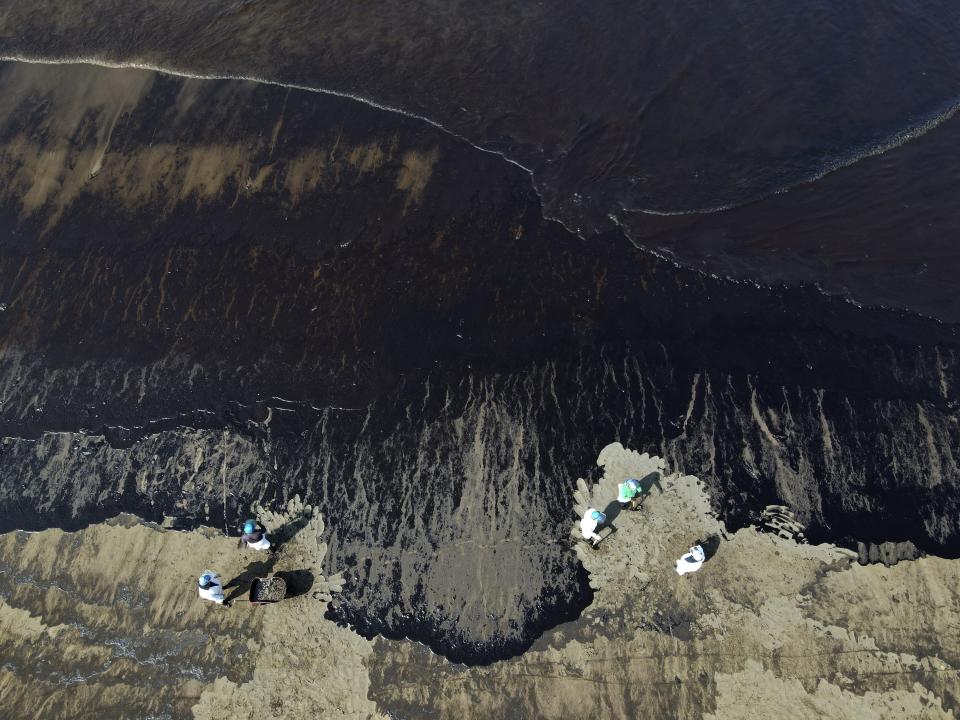
{"type": "Polygon", "coordinates": [[[370,644],[323,618],[340,580],[323,576],[322,519],[297,499],[261,517],[296,529],[273,571],[312,576],[281,606],[198,598],[202,569],[231,580],[261,575],[269,562],[210,529],[167,531],[124,516],[77,533],[2,536],[0,717],[176,718],[191,708],[220,717],[221,707],[236,717],[307,717],[316,707],[373,714],[362,664],[370,644]]]}

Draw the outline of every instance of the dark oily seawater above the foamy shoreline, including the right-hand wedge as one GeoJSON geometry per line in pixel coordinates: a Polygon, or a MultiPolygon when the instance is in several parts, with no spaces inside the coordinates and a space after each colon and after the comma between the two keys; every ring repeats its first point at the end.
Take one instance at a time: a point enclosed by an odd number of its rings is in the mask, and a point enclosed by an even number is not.
{"type": "Polygon", "coordinates": [[[370,98],[528,167],[584,237],[620,223],[709,272],[960,319],[955,143],[843,169],[956,110],[947,0],[39,0],[0,6],[0,53],[370,98]]]}

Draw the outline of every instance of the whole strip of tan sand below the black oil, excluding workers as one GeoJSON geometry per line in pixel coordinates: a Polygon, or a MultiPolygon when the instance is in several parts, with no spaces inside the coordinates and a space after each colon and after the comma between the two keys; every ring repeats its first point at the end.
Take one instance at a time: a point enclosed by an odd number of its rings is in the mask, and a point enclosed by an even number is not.
{"type": "Polygon", "coordinates": [[[210,529],[118,518],[0,539],[0,699],[16,717],[946,718],[958,707],[960,569],[861,566],[849,551],[728,533],[696,478],[614,443],[567,499],[596,588],[576,620],[521,657],[452,664],[409,641],[364,640],[323,617],[336,571],[321,517],[294,500],[274,571],[308,571],[271,606],[198,599],[195,576],[261,572],[210,529]],[[593,550],[576,513],[644,478],[638,512],[593,550]],[[710,556],[679,577],[694,541],[710,556]],[[332,576],[332,577],[331,577],[332,576]]]}

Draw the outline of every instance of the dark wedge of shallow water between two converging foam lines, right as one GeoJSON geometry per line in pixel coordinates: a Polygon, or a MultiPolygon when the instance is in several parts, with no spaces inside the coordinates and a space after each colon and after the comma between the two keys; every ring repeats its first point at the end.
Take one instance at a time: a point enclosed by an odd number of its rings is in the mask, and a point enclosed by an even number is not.
{"type": "Polygon", "coordinates": [[[710,214],[623,213],[635,241],[706,271],[819,286],[960,319],[960,118],[761,202],[710,214]]]}

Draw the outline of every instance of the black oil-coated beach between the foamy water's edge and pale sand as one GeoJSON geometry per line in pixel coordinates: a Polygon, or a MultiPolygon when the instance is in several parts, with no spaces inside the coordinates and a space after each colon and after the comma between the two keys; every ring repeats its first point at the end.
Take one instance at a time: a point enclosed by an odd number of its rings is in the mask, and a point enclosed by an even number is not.
{"type": "Polygon", "coordinates": [[[732,527],[960,555],[956,328],[683,269],[529,176],[324,94],[0,66],[0,525],[327,519],[332,612],[454,660],[589,603],[619,440],[732,527]]]}

